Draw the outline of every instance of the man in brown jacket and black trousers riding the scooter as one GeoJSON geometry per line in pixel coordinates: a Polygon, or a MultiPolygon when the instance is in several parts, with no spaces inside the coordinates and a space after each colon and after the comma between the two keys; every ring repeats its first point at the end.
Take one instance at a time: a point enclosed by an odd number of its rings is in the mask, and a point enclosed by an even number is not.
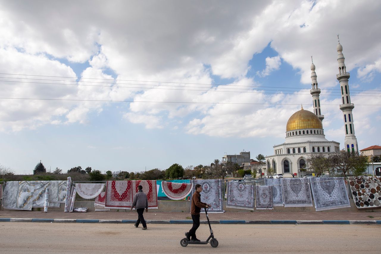
{"type": "Polygon", "coordinates": [[[192,196],[191,201],[191,215],[193,220],[193,227],[189,232],[185,233],[185,236],[187,237],[188,241],[196,241],[199,242],[200,240],[196,238],[196,230],[200,227],[200,211],[201,208],[209,208],[210,205],[207,203],[201,202],[201,195],[200,192],[202,191],[202,187],[199,184],[196,184],[195,193],[192,196]]]}

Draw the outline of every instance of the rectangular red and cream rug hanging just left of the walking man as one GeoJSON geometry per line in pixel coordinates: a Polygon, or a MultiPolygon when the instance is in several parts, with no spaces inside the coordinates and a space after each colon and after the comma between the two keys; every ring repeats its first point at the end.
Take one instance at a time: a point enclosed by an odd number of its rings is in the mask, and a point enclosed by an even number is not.
{"type": "Polygon", "coordinates": [[[105,208],[130,208],[131,197],[131,181],[107,181],[105,208]]]}

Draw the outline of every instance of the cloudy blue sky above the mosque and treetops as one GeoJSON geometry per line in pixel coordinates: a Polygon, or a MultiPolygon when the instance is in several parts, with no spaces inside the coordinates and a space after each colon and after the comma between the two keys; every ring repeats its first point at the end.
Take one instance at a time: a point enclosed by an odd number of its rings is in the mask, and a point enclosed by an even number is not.
{"type": "Polygon", "coordinates": [[[344,146],[337,34],[359,148],[380,145],[381,1],[0,1],[0,164],[139,172],[274,154],[312,111],[344,146]]]}

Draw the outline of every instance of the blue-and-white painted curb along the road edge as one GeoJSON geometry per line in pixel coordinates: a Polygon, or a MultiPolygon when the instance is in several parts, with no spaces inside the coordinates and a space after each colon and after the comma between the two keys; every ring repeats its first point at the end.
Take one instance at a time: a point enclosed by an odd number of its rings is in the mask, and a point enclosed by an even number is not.
{"type": "MultiPolygon", "coordinates": [[[[0,222],[58,222],[58,223],[135,223],[136,220],[94,220],[94,219],[30,219],[0,218],[0,222]]],[[[151,224],[192,224],[192,220],[146,220],[151,224]]],[[[208,223],[201,220],[200,223],[208,223]]],[[[210,220],[211,224],[257,224],[257,225],[381,225],[381,220],[210,220]]]]}

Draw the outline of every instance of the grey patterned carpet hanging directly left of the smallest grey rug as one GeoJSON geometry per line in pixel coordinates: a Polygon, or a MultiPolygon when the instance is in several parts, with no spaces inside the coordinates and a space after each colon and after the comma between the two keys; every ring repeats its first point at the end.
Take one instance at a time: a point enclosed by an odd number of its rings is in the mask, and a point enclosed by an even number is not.
{"type": "Polygon", "coordinates": [[[227,182],[226,207],[254,210],[254,185],[227,182]]]}

